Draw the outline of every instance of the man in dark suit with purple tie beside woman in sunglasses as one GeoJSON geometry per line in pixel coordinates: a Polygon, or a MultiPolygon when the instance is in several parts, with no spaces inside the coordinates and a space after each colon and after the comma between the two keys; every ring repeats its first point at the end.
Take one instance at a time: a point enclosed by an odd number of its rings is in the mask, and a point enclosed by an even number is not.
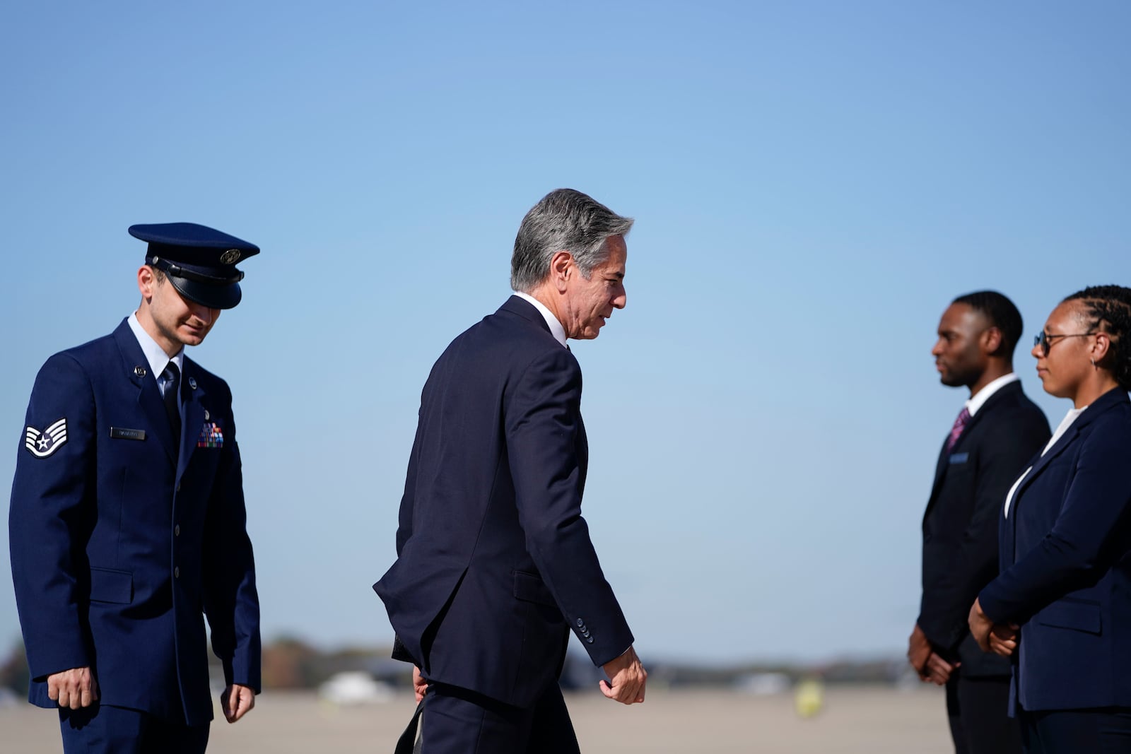
{"type": "Polygon", "coordinates": [[[985,655],[967,614],[998,575],[998,517],[1005,493],[1047,442],[1048,423],[1021,390],[1013,349],[1021,314],[994,291],[956,298],[931,353],[943,384],[968,388],[943,440],[923,515],[923,593],[908,659],[924,681],[947,687],[958,754],[1021,751],[1008,717],[1009,662],[985,655]]]}

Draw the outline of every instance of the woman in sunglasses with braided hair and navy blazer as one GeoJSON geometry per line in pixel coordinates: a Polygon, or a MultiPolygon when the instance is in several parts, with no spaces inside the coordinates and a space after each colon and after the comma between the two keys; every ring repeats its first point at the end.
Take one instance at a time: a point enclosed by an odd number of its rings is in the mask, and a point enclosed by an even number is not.
{"type": "Polygon", "coordinates": [[[1062,301],[1033,355],[1072,408],[1005,496],[970,632],[1016,656],[1026,752],[1131,752],[1131,288],[1062,301]]]}

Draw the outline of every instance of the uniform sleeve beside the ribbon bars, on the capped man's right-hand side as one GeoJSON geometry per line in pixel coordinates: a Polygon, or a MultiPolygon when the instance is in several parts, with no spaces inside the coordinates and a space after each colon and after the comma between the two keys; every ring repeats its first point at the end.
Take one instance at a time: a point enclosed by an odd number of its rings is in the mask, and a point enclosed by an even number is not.
{"type": "MultiPolygon", "coordinates": [[[[232,393],[225,398],[231,406],[232,393]]],[[[259,692],[259,595],[234,421],[227,432],[205,522],[205,614],[213,651],[224,666],[224,682],[259,692]]]]}

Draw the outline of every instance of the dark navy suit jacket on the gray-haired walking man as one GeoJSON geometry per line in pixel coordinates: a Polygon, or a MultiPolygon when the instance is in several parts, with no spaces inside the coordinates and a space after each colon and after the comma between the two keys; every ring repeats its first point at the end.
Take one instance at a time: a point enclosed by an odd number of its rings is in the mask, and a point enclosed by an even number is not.
{"type": "Polygon", "coordinates": [[[580,405],[577,359],[517,296],[432,367],[397,560],[373,584],[400,657],[430,681],[530,707],[561,670],[567,626],[595,665],[632,644],[581,518],[580,405]]]}

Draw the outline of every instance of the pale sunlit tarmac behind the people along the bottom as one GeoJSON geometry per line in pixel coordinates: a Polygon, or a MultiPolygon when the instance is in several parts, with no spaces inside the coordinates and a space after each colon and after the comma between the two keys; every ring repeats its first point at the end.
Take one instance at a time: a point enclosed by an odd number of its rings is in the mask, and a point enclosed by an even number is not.
{"type": "MultiPolygon", "coordinates": [[[[943,695],[839,686],[823,711],[797,718],[793,695],[654,690],[624,708],[596,691],[567,697],[584,754],[949,754],[943,695]]],[[[408,696],[385,704],[334,708],[309,693],[268,692],[241,722],[213,722],[209,754],[391,754],[413,711],[408,696]]],[[[217,713],[217,717],[218,713],[217,713]]],[[[58,719],[29,705],[0,709],[0,748],[59,752],[58,719]]]]}

